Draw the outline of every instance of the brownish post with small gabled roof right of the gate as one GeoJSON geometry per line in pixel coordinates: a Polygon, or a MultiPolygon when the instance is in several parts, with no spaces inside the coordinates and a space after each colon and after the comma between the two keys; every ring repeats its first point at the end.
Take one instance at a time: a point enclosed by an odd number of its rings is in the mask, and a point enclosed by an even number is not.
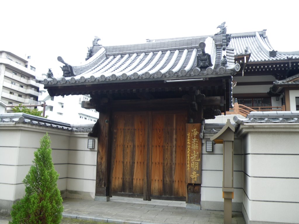
{"type": "Polygon", "coordinates": [[[210,140],[214,144],[223,144],[223,182],[224,224],[231,224],[232,199],[234,198],[234,132],[230,119],[210,140]]]}

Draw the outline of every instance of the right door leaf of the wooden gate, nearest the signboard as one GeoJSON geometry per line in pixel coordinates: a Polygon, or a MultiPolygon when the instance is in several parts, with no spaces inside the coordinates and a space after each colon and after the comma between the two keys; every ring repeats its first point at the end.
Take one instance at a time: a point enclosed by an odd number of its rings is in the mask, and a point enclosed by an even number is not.
{"type": "Polygon", "coordinates": [[[153,113],[151,198],[185,200],[185,113],[153,113]]]}

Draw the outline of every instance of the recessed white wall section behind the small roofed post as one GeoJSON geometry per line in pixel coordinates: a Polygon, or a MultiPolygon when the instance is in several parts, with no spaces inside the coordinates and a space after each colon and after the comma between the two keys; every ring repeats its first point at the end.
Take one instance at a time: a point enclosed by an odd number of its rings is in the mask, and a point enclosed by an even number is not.
{"type": "MultiPolygon", "coordinates": [[[[242,211],[242,143],[234,140],[234,199],[233,211],[242,211]]],[[[205,139],[202,144],[201,208],[223,211],[223,145],[213,145],[213,152],[206,152],[205,139]]]]}

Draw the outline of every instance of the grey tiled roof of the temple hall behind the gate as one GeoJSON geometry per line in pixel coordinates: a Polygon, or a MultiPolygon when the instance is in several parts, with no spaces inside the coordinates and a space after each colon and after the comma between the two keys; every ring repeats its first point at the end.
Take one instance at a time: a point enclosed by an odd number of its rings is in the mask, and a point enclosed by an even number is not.
{"type": "Polygon", "coordinates": [[[234,47],[235,55],[250,53],[249,62],[279,61],[288,58],[299,59],[299,51],[282,52],[273,49],[266,36],[266,30],[232,34],[230,46],[234,47]],[[248,47],[248,53],[245,53],[246,47],[248,47]]]}

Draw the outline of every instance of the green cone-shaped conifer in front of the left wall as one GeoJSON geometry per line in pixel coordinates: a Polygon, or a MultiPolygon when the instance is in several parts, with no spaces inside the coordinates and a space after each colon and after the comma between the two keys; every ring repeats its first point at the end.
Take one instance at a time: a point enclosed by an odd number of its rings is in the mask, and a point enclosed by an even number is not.
{"type": "Polygon", "coordinates": [[[62,219],[62,197],[57,187],[59,174],[54,169],[48,133],[34,152],[33,165],[23,180],[25,196],[12,208],[10,224],[58,224],[62,219]]]}

